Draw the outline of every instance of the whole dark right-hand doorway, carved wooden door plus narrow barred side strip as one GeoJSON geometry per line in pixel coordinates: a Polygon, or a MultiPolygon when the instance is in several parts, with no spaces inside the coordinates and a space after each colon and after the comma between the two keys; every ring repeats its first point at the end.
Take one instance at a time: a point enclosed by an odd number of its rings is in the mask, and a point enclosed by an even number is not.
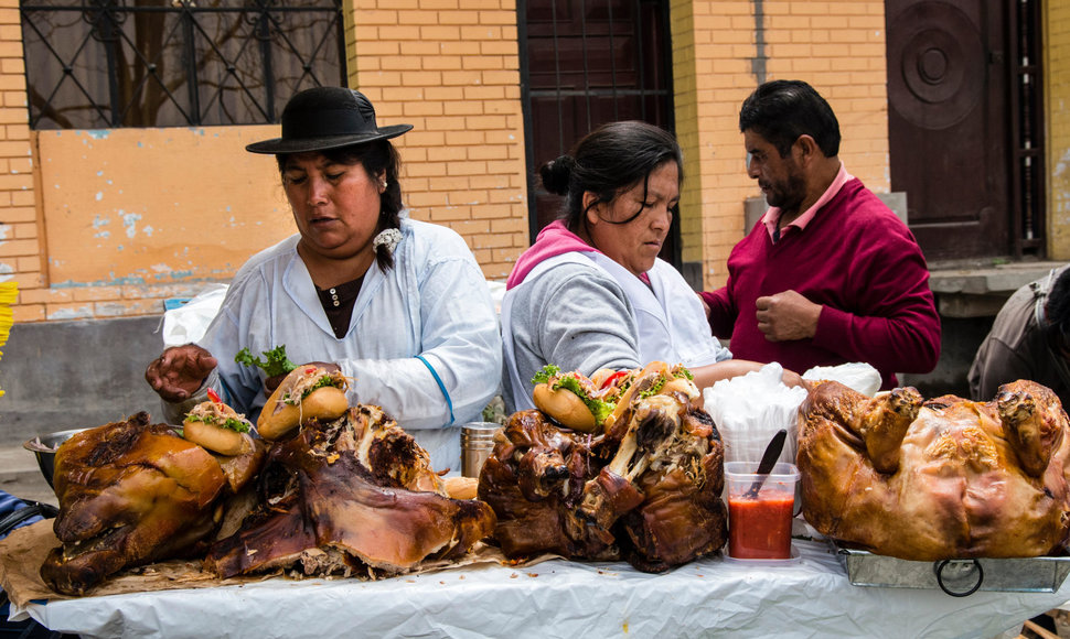
{"type": "Polygon", "coordinates": [[[925,257],[1040,257],[1039,0],[885,7],[891,188],[925,257]]]}

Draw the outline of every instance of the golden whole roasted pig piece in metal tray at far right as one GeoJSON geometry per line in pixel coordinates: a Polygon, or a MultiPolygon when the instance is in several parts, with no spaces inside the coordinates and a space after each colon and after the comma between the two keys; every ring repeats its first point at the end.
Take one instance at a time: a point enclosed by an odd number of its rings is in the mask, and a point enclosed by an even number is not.
{"type": "Polygon", "coordinates": [[[989,402],[821,382],[799,410],[803,515],[906,560],[1057,553],[1070,534],[1067,427],[1059,398],[1026,380],[989,402]]]}

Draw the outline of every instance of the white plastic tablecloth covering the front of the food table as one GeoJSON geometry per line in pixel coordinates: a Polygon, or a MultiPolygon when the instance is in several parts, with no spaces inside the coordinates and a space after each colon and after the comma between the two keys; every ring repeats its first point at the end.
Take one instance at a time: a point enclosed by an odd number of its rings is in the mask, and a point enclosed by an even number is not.
{"type": "Polygon", "coordinates": [[[660,575],[624,563],[549,561],[357,580],[272,578],[30,604],[53,630],[87,637],[980,637],[991,639],[1070,600],[1058,593],[860,587],[820,542],[798,562],[751,566],[720,556],[660,575]]]}

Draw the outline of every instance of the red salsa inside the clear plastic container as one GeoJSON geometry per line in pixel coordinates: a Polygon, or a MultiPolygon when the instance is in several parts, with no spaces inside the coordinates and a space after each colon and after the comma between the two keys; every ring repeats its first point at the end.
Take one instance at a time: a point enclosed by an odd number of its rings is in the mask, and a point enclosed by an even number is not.
{"type": "Polygon", "coordinates": [[[728,499],[728,555],[732,559],[790,559],[792,495],[728,499]]]}

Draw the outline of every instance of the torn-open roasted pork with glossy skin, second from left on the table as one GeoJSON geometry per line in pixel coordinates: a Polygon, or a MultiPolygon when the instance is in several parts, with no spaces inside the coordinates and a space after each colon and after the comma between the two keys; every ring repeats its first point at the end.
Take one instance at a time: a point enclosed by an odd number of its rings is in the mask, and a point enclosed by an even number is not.
{"type": "Polygon", "coordinates": [[[387,576],[458,559],[493,529],[488,505],[450,499],[415,440],[378,407],[359,404],[272,446],[256,508],[205,567],[224,577],[387,576]]]}

